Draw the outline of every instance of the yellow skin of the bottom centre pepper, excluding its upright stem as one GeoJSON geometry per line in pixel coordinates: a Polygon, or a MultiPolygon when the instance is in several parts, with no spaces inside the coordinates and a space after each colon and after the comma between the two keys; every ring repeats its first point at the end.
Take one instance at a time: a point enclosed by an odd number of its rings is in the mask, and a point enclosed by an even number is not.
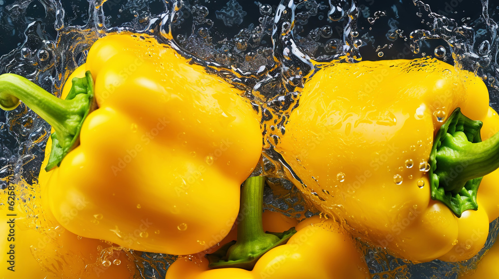
{"type": "MultiPolygon", "coordinates": [[[[275,212],[263,213],[267,231],[283,231],[293,220],[275,212]]],[[[166,273],[166,279],[366,279],[370,278],[363,255],[351,236],[330,220],[318,216],[296,226],[298,231],[287,244],[268,251],[252,271],[236,268],[208,268],[204,257],[179,258],[166,273]]],[[[228,242],[226,239],[222,242],[228,242]]]]}

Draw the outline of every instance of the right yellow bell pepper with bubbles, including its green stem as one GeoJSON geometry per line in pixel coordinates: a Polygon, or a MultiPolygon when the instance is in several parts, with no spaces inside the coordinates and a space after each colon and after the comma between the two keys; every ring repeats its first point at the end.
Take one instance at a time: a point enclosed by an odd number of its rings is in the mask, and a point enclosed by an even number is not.
{"type": "Polygon", "coordinates": [[[356,237],[401,258],[455,262],[480,251],[499,217],[499,172],[478,188],[499,162],[499,118],[483,81],[436,59],[319,67],[276,145],[296,186],[356,237]],[[481,132],[458,112],[447,121],[457,108],[482,121],[481,132]],[[484,141],[471,143],[463,123],[484,141]]]}

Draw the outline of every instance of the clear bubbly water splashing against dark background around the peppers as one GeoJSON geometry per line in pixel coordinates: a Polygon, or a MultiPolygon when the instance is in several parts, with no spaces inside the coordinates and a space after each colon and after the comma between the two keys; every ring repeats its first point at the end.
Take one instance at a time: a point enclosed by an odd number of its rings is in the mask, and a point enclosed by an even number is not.
{"type": "MultiPolygon", "coordinates": [[[[0,9],[1,17],[7,19],[2,27],[20,40],[0,58],[0,72],[22,75],[59,95],[67,76],[85,62],[98,38],[125,30],[152,34],[244,91],[242,96],[258,112],[264,128],[259,171],[270,176],[267,208],[296,218],[309,217],[315,212],[304,212],[307,206],[288,180],[300,181],[299,177],[273,149],[286,132],[291,111],[299,105],[306,79],[330,61],[433,55],[483,77],[491,105],[497,109],[499,49],[494,18],[498,9],[488,0],[480,3],[478,16],[458,17],[457,6],[421,0],[382,4],[230,0],[217,8],[199,0],[75,0],[71,5],[18,0],[0,9]],[[418,26],[404,28],[404,20],[418,26]]],[[[4,113],[0,121],[0,178],[4,178],[0,186],[21,178],[35,183],[50,127],[23,105],[4,113]]],[[[490,231],[486,248],[497,236],[498,222],[491,223],[490,231]]],[[[365,247],[365,251],[375,278],[453,278],[473,268],[486,249],[464,263],[419,265],[393,258],[379,248],[365,247]]],[[[134,254],[143,278],[164,277],[168,263],[175,259],[140,255],[134,254]]]]}

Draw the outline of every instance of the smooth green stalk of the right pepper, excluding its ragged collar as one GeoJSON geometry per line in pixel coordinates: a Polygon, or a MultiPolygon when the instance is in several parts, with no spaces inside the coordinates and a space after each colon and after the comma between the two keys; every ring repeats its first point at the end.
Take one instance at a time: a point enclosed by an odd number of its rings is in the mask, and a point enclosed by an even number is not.
{"type": "Polygon", "coordinates": [[[454,181],[468,181],[493,172],[499,168],[499,133],[482,142],[462,145],[450,161],[450,169],[456,171],[454,181]]]}

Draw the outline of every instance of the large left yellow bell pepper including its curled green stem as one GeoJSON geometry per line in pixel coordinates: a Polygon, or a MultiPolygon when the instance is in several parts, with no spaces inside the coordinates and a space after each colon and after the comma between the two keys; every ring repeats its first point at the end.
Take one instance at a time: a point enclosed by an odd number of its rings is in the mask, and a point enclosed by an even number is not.
{"type": "Polygon", "coordinates": [[[68,80],[61,100],[0,76],[2,108],[19,98],[54,130],[41,183],[58,222],[82,237],[175,255],[229,233],[261,153],[259,121],[241,91],[130,33],[96,41],[68,80]]]}

